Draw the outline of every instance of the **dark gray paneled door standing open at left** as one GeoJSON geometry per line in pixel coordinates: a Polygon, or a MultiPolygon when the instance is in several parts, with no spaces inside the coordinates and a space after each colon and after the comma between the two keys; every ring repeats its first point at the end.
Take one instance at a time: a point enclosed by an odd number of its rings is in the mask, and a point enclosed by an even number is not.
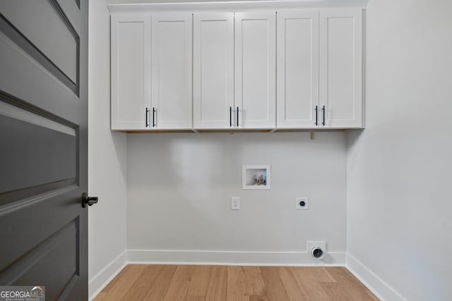
{"type": "Polygon", "coordinates": [[[88,0],[0,1],[0,285],[88,299],[88,0]]]}

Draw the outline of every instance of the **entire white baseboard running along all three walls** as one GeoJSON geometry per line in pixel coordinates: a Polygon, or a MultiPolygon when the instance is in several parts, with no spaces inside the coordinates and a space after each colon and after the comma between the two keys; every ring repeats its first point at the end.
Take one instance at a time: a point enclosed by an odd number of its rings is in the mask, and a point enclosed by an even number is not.
{"type": "Polygon", "coordinates": [[[94,276],[88,285],[89,300],[124,269],[126,264],[213,264],[256,266],[346,266],[359,281],[387,301],[407,301],[388,283],[364,266],[351,254],[328,252],[315,260],[307,252],[242,252],[203,250],[126,250],[94,276]]]}

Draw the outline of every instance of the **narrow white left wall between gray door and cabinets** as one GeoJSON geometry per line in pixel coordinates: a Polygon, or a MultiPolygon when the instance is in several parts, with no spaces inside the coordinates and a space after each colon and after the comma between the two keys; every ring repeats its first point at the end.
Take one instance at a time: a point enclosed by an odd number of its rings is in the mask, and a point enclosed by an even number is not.
{"type": "Polygon", "coordinates": [[[99,197],[88,213],[92,295],[111,276],[108,271],[102,274],[105,268],[114,272],[117,267],[109,264],[126,250],[126,134],[109,129],[109,12],[105,0],[90,1],[89,14],[88,191],[99,197]]]}

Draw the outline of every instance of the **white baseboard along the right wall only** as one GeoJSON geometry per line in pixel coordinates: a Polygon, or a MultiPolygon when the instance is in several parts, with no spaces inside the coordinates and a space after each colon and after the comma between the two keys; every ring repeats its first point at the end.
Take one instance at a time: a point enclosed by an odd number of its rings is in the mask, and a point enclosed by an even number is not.
{"type": "Polygon", "coordinates": [[[400,295],[391,285],[383,281],[383,279],[367,268],[367,266],[364,266],[364,264],[359,262],[350,253],[347,253],[346,267],[380,300],[407,301],[403,295],[400,295]]]}

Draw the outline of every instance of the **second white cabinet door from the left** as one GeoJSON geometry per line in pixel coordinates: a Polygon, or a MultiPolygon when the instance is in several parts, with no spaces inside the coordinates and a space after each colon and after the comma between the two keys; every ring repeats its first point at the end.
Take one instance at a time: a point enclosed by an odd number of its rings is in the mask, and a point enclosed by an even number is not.
{"type": "Polygon", "coordinates": [[[192,128],[191,18],[191,13],[153,15],[151,128],[192,128]]]}

